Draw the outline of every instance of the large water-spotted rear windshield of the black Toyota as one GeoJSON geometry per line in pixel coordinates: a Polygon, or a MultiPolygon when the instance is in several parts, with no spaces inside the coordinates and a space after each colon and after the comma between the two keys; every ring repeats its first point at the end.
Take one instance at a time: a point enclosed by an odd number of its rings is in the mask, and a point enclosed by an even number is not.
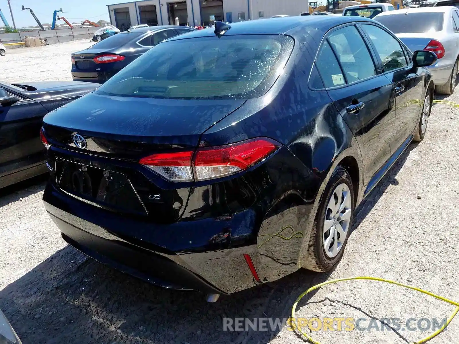
{"type": "Polygon", "coordinates": [[[169,99],[243,99],[266,93],[293,39],[280,35],[166,41],[104,83],[98,94],[169,99]]]}

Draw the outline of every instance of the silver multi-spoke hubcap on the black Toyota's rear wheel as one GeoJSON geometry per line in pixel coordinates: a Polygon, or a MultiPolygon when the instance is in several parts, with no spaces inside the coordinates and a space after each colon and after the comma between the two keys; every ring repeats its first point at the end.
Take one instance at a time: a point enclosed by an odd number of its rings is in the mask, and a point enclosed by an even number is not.
{"type": "Polygon", "coordinates": [[[325,254],[334,258],[346,242],[351,223],[351,192],[345,183],[339,184],[331,194],[325,212],[323,243],[325,254]]]}

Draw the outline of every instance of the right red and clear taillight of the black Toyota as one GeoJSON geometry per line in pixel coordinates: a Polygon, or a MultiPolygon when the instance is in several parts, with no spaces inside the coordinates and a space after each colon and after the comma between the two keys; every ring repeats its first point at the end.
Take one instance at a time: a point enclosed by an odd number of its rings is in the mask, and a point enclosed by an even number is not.
{"type": "Polygon", "coordinates": [[[140,164],[148,166],[173,182],[220,178],[241,172],[262,161],[279,145],[269,139],[252,139],[225,146],[147,156],[140,164]],[[194,175],[194,177],[193,177],[194,175]]]}

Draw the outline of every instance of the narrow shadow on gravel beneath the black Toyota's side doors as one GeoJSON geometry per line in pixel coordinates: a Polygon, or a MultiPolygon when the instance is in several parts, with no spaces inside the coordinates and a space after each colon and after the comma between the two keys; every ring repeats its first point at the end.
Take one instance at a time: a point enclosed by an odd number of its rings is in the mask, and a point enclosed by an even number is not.
{"type": "Polygon", "coordinates": [[[391,169],[386,173],[386,175],[381,179],[381,181],[375,186],[365,200],[360,203],[360,205],[355,210],[353,228],[352,231],[356,230],[363,219],[369,214],[373,209],[375,204],[381,198],[381,196],[386,192],[386,189],[389,185],[398,185],[397,173],[400,172],[400,169],[403,167],[406,159],[408,158],[409,153],[417,147],[418,143],[412,143],[408,148],[403,152],[403,154],[398,158],[391,169]]]}

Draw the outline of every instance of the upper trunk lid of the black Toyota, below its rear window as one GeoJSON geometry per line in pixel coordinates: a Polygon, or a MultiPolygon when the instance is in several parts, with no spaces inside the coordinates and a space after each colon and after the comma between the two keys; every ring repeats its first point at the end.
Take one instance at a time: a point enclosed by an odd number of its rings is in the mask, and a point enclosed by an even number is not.
{"type": "Polygon", "coordinates": [[[44,123],[54,127],[56,139],[65,145],[70,137],[63,139],[61,134],[78,132],[91,138],[123,141],[126,147],[129,143],[151,148],[196,147],[205,130],[244,101],[169,100],[92,93],[50,112],[44,123]]]}

